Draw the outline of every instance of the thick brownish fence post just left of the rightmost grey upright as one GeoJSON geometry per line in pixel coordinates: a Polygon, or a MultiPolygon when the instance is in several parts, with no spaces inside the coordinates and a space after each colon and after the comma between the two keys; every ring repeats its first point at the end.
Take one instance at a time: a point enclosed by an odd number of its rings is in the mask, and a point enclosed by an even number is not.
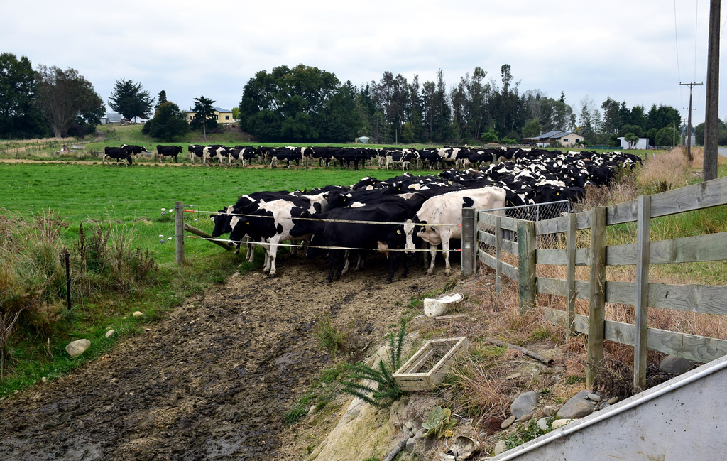
{"type": "Polygon", "coordinates": [[[606,319],[606,207],[591,210],[590,305],[588,306],[588,353],[586,387],[593,388],[603,361],[606,319]]]}

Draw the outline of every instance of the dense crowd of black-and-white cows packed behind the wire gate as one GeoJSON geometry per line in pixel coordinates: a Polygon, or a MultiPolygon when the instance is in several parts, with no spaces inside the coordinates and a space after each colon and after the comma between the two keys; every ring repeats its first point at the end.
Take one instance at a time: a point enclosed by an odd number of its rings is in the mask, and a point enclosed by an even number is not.
{"type": "MultiPolygon", "coordinates": [[[[263,270],[276,275],[277,248],[283,241],[308,241],[309,255],[329,254],[326,281],[339,278],[365,252],[385,252],[390,259],[387,283],[417,247],[430,256],[433,273],[441,245],[449,276],[449,241],[461,238],[462,207],[499,209],[524,204],[574,201],[589,184],[607,185],[618,169],[631,169],[640,158],[628,153],[596,153],[509,149],[496,153],[499,162],[482,169],[447,169],[438,175],[408,172],[390,180],[364,177],[350,186],[329,185],[313,191],[262,191],[239,197],[212,214],[218,238],[246,241],[252,261],[255,244],[265,249],[263,270]]],[[[239,251],[239,249],[238,249],[239,251]]]]}

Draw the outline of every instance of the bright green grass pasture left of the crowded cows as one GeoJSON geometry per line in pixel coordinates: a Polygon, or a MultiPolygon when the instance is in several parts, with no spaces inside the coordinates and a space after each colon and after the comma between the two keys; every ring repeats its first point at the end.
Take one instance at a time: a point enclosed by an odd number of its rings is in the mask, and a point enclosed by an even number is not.
{"type": "MultiPolygon", "coordinates": [[[[427,173],[430,172],[419,172],[427,173]]],[[[211,231],[209,212],[234,204],[245,193],[303,191],[331,184],[351,185],[367,175],[385,180],[400,174],[401,170],[370,168],[355,171],[153,164],[123,167],[63,162],[0,164],[0,207],[22,216],[52,209],[67,220],[65,236],[69,242],[75,240],[80,224],[101,224],[111,227],[113,233],[132,233],[134,245],[149,248],[157,262],[163,264],[174,261],[174,241],[169,237],[174,236],[175,201],[198,210],[185,213],[186,223],[211,231]]],[[[223,251],[219,246],[192,238],[185,240],[185,250],[189,257],[223,251]]]]}

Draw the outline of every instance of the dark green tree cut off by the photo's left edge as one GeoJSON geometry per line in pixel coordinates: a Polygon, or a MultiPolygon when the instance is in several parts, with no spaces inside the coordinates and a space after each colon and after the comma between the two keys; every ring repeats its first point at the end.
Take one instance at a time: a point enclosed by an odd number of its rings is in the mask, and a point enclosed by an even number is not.
{"type": "Polygon", "coordinates": [[[47,125],[33,108],[35,72],[28,57],[0,54],[0,138],[42,137],[47,125]]]}

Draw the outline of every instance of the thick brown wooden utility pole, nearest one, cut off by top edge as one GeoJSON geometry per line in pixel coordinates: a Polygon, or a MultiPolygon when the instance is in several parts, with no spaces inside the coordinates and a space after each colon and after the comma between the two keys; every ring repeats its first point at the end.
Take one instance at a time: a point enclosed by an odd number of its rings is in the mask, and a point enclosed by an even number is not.
{"type": "Polygon", "coordinates": [[[710,45],[707,49],[707,104],[704,113],[704,166],[702,180],[717,178],[717,143],[720,95],[720,0],[710,0],[710,45]]]}

